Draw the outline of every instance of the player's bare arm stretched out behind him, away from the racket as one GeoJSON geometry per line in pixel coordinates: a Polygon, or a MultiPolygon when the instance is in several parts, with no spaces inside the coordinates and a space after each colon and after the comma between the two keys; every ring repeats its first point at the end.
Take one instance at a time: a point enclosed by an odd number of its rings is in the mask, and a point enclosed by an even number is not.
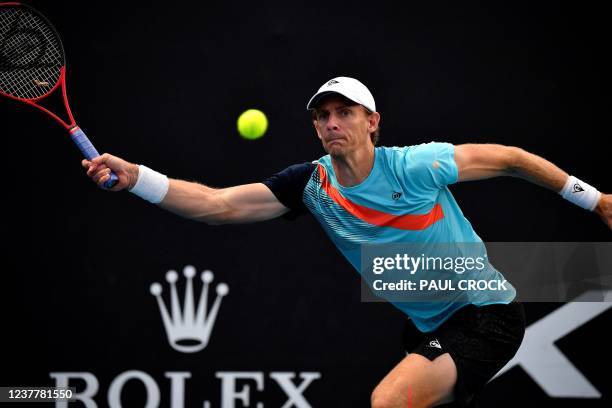
{"type": "MultiPolygon", "coordinates": [[[[497,176],[520,177],[560,194],[570,187],[568,183],[572,182],[570,176],[553,163],[518,147],[495,144],[458,145],[455,146],[455,162],[459,171],[458,181],[497,176]]],[[[568,198],[566,194],[563,196],[568,198]]],[[[597,197],[593,202],[594,208],[590,209],[612,229],[612,195],[601,194],[597,197]]]]}

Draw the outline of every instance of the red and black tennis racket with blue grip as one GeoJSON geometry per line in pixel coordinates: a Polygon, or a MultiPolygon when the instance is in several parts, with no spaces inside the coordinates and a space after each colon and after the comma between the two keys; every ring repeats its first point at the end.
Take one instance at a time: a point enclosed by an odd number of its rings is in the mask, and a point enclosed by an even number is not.
{"type": "MultiPolygon", "coordinates": [[[[49,20],[25,4],[0,3],[0,95],[35,106],[57,120],[88,160],[100,156],[70,111],[60,37],[49,20]],[[39,105],[60,87],[68,123],[39,105]]],[[[118,180],[111,172],[104,187],[111,188],[118,180]]]]}

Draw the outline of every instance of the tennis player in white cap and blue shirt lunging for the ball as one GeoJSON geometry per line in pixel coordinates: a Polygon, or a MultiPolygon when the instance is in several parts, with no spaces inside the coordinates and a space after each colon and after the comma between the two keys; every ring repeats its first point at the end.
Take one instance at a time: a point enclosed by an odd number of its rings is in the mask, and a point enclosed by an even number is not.
{"type": "MultiPolygon", "coordinates": [[[[261,183],[211,188],[110,154],[84,160],[83,166],[100,187],[112,169],[119,177],[112,191],[128,190],[208,224],[293,219],[310,212],[358,270],[363,243],[481,242],[448,188],[469,180],[523,178],[596,212],[612,229],[612,195],[520,148],[433,142],[377,147],[380,114],[356,79],[326,82],[307,109],[327,155],[261,183]]],[[[523,339],[525,316],[516,291],[494,301],[423,304],[395,304],[409,317],[407,355],[374,389],[372,407],[476,406],[485,384],[523,339]]]]}

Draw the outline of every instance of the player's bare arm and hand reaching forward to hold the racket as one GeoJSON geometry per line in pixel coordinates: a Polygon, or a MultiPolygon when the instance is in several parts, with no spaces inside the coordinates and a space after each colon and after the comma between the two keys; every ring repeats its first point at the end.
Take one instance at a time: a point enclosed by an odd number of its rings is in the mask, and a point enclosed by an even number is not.
{"type": "MultiPolygon", "coordinates": [[[[112,191],[134,191],[139,176],[142,182],[142,175],[139,174],[141,167],[107,153],[91,162],[83,160],[82,164],[87,169],[87,175],[100,187],[112,169],[119,177],[112,191]]],[[[158,183],[154,180],[153,184],[155,192],[158,183]]],[[[168,179],[167,190],[162,190],[159,195],[161,201],[152,202],[182,217],[207,224],[263,221],[289,211],[262,183],[216,189],[199,183],[168,179]]]]}

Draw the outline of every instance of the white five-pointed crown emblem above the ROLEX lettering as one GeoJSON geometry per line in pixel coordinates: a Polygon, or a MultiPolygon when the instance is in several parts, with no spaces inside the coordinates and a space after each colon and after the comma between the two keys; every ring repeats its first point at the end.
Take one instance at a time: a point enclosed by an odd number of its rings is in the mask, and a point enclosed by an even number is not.
{"type": "Polygon", "coordinates": [[[176,271],[166,273],[166,281],[170,284],[170,312],[168,312],[161,296],[161,284],[157,282],[151,284],[151,294],[157,299],[168,341],[172,348],[182,353],[195,353],[208,345],[221,306],[221,300],[228,294],[229,287],[225,283],[219,283],[216,286],[217,297],[212,307],[208,309],[208,290],[214,275],[211,271],[202,272],[200,277],[204,284],[196,308],[193,293],[193,278],[196,275],[196,269],[193,266],[186,266],[183,269],[183,275],[187,281],[182,310],[176,288],[176,282],[179,278],[176,271]]]}

